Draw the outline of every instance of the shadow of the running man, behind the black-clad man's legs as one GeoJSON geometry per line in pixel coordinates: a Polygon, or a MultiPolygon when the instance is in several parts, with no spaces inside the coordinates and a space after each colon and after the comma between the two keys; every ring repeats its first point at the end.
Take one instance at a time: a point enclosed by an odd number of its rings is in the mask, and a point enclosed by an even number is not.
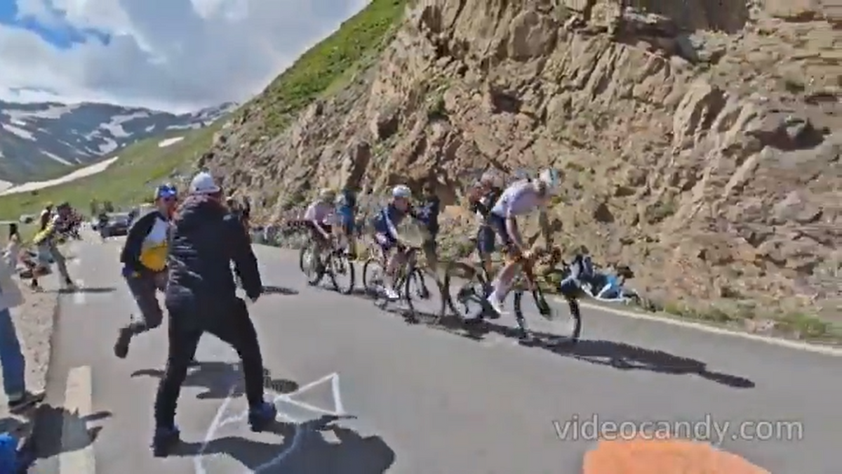
{"type": "MultiPolygon", "coordinates": [[[[140,376],[160,379],[163,377],[163,370],[140,369],[131,374],[131,377],[140,376]]],[[[241,364],[216,361],[199,362],[194,369],[190,369],[187,378],[184,379],[184,386],[205,389],[196,396],[200,400],[241,396],[245,391],[241,364]]],[[[264,367],[264,388],[277,393],[291,393],[298,390],[298,384],[293,380],[272,379],[269,369],[264,367]]]]}

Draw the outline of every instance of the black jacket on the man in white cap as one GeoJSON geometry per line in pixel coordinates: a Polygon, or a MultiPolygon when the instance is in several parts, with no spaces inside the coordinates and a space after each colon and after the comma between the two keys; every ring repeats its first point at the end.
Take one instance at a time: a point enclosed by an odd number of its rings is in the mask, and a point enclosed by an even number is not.
{"type": "Polygon", "coordinates": [[[242,223],[219,202],[188,197],[170,234],[168,310],[212,312],[230,307],[237,299],[232,261],[248,297],[258,297],[263,283],[242,223]]]}

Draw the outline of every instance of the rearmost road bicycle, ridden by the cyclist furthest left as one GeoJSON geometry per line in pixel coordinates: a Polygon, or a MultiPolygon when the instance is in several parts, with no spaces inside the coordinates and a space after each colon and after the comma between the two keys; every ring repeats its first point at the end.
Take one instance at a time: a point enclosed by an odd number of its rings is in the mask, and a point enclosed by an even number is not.
{"type": "Polygon", "coordinates": [[[322,278],[328,275],[333,289],[339,293],[351,294],[354,291],[354,264],[350,261],[348,252],[334,240],[331,240],[328,250],[321,252],[317,252],[317,245],[312,239],[307,240],[298,252],[298,267],[304,272],[310,286],[321,283],[322,278]],[[321,255],[317,255],[318,253],[321,255]],[[348,284],[340,285],[339,277],[347,277],[348,284]]]}

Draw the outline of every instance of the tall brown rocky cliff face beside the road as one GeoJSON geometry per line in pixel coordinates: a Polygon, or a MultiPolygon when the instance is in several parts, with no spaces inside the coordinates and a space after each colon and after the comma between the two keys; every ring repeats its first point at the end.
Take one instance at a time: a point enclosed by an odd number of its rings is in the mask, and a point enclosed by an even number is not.
{"type": "Polygon", "coordinates": [[[247,108],[202,164],[266,219],[320,186],[434,179],[456,205],[482,170],[554,166],[559,234],[649,294],[839,314],[840,22],[821,0],[418,0],[345,89],[278,136],[247,108]]]}

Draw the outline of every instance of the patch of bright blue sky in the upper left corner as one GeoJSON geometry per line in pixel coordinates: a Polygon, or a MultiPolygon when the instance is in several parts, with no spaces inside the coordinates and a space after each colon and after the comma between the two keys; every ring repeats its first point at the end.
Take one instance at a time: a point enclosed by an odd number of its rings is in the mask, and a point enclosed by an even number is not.
{"type": "MultiPolygon", "coordinates": [[[[49,3],[45,3],[45,7],[56,15],[56,19],[61,19],[65,16],[60,10],[52,8],[49,3]]],[[[108,44],[110,40],[110,36],[102,31],[91,29],[77,30],[66,21],[56,22],[58,24],[52,25],[44,24],[32,15],[19,17],[18,13],[16,0],[0,0],[0,24],[29,30],[58,49],[69,49],[73,45],[85,43],[91,39],[99,40],[104,44],[108,44]]]]}

